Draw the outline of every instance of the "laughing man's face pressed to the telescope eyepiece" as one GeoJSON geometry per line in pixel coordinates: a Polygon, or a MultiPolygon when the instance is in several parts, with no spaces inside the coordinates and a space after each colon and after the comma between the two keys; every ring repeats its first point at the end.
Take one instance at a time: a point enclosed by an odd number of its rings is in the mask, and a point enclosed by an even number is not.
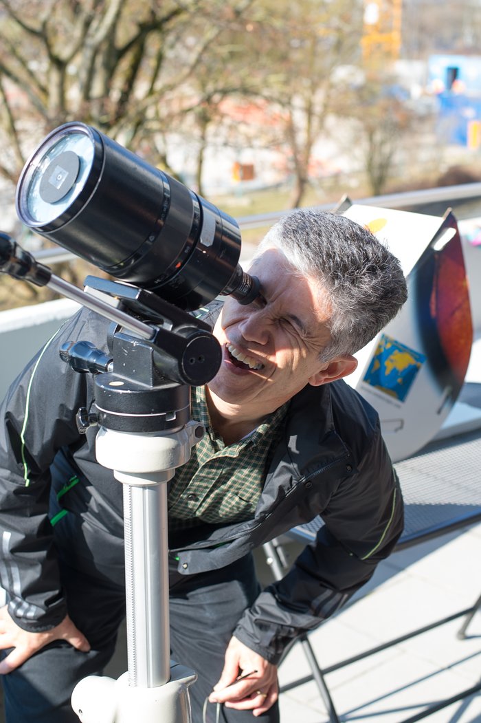
{"type": "Polygon", "coordinates": [[[261,282],[259,309],[228,298],[214,335],[222,364],[208,387],[230,404],[267,414],[306,386],[323,383],[329,365],[319,354],[329,341],[329,307],[311,278],[295,275],[284,254],[267,249],[250,272],[261,282]]]}

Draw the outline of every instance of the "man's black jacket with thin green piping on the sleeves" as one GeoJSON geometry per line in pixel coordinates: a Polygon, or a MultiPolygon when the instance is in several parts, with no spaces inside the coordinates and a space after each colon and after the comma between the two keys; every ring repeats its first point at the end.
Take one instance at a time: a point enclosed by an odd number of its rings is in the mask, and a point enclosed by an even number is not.
{"type": "MultiPolygon", "coordinates": [[[[1,408],[1,586],[12,617],[27,630],[51,628],[66,615],[58,555],[97,577],[123,581],[122,485],[95,461],[96,429],[79,435],[75,423],[77,409],[93,401],[92,376],[71,371],[58,354],[61,343],[78,339],[106,349],[108,324],[86,309],[66,322],[1,408]],[[74,470],[73,481],[58,474],[63,467],[74,470]],[[52,526],[61,508],[68,513],[52,526]]],[[[345,382],[307,386],[290,403],[254,518],[174,534],[170,549],[180,573],[199,573],[321,515],[317,544],[261,593],[235,630],[278,662],[292,638],[368,581],[401,534],[402,510],[376,411],[345,382]]]]}

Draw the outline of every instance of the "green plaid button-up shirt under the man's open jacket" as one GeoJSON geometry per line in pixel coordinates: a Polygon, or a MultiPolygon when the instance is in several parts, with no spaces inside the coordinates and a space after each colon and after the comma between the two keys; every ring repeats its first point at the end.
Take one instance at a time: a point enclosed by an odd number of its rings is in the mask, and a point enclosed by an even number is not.
{"type": "Polygon", "coordinates": [[[205,388],[192,390],[192,418],[201,422],[206,432],[170,482],[170,529],[201,522],[241,522],[253,517],[264,487],[269,450],[282,435],[287,406],[288,402],[240,442],[226,446],[212,429],[205,388]]]}

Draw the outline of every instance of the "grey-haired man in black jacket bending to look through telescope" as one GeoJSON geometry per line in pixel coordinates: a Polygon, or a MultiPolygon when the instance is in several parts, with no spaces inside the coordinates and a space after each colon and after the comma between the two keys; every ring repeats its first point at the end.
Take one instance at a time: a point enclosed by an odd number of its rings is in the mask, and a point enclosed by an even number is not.
{"type": "MultiPolygon", "coordinates": [[[[276,722],[282,652],[368,581],[402,531],[378,417],[341,381],[406,299],[399,262],[349,219],[297,210],[269,231],[251,273],[265,304],[225,301],[220,370],[193,390],[207,433],[169,489],[171,648],[199,675],[195,723],[204,704],[209,720],[220,709],[228,723],[276,722]],[[260,592],[251,550],[319,514],[318,543],[260,592]]],[[[2,409],[9,723],[74,722],[71,690],[108,662],[123,617],[121,484],[95,462],[95,429],[81,437],[74,422],[92,378],[58,359],[61,343],[100,346],[107,330],[79,312],[2,409]]]]}

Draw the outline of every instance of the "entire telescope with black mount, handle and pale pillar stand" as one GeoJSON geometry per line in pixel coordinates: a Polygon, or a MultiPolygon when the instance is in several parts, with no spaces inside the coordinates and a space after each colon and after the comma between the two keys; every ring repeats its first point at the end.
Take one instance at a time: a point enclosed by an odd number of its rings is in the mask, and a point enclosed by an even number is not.
{"type": "Polygon", "coordinates": [[[26,226],[117,281],[88,276],[84,291],[0,233],[0,271],[49,286],[113,322],[108,354],[88,341],[59,349],[95,375],[95,403],[77,411],[98,427],[97,461],[123,485],[128,672],[91,676],[71,703],[82,723],[189,723],[194,671],[170,661],[167,483],[204,428],[190,388],[220,367],[220,345],[196,309],[218,295],[263,305],[238,263],[237,223],[97,129],[71,122],[27,161],[17,184],[26,226]]]}

